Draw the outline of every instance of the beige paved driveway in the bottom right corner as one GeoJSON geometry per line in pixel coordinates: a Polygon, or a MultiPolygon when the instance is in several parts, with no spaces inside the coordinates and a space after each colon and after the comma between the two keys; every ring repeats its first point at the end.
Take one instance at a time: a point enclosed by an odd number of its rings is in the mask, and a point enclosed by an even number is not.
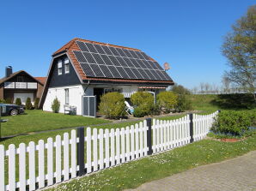
{"type": "Polygon", "coordinates": [[[125,191],[256,190],[256,151],[187,170],[125,191]]]}

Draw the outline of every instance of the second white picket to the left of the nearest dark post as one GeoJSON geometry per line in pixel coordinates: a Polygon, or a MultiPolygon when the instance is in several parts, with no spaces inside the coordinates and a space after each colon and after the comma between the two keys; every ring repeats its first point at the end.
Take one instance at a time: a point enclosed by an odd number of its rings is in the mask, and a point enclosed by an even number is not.
{"type": "Polygon", "coordinates": [[[70,178],[70,138],[68,133],[64,133],[64,181],[70,178]]]}

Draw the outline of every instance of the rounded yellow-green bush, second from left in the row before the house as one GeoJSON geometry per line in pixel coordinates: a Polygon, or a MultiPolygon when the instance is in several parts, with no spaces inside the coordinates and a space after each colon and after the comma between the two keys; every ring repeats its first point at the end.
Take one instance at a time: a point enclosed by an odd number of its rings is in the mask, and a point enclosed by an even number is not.
{"type": "MultiPolygon", "coordinates": [[[[137,111],[137,113],[140,113],[139,116],[147,116],[154,108],[154,97],[151,93],[133,93],[131,95],[131,103],[135,106],[135,110],[139,110],[137,111]]],[[[136,116],[136,114],[134,116],[136,116]]]]}

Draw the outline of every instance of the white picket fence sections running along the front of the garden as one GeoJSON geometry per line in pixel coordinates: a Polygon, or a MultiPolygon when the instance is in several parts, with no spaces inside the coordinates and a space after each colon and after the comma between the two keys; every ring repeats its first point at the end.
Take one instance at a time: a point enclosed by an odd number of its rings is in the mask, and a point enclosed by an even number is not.
{"type": "MultiPolygon", "coordinates": [[[[193,114],[194,140],[204,138],[216,114],[217,111],[207,116],[193,114]]],[[[110,130],[86,128],[86,173],[147,156],[148,129],[146,121],[110,130]]],[[[48,138],[46,143],[39,140],[38,145],[31,141],[28,146],[21,143],[15,148],[11,144],[7,151],[0,145],[0,190],[35,190],[76,177],[79,170],[76,144],[79,138],[76,137],[76,130],[72,130],[70,135],[65,133],[63,140],[57,135],[55,142],[52,138],[48,138]],[[5,185],[6,178],[8,185],[5,185]]],[[[170,121],[154,119],[152,138],[153,153],[188,144],[191,139],[189,116],[170,121]]]]}

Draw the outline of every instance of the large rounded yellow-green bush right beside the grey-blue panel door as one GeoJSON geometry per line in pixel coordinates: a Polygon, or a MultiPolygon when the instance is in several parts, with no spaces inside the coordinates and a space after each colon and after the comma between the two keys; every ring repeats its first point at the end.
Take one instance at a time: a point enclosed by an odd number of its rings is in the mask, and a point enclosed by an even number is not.
{"type": "Polygon", "coordinates": [[[117,119],[125,116],[125,98],[121,93],[107,93],[101,97],[100,113],[107,118],[117,119]]]}

